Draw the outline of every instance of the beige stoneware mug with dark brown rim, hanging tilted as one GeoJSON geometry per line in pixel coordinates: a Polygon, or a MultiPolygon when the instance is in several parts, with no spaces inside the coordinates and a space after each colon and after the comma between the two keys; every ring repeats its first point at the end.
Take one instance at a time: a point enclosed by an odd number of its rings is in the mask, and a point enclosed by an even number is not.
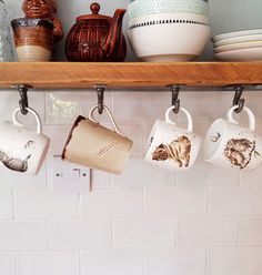
{"type": "Polygon", "coordinates": [[[132,141],[118,128],[110,110],[104,106],[113,131],[99,124],[93,118],[93,106],[89,118],[79,116],[68,136],[62,159],[91,169],[121,174],[130,156],[132,141]]]}

